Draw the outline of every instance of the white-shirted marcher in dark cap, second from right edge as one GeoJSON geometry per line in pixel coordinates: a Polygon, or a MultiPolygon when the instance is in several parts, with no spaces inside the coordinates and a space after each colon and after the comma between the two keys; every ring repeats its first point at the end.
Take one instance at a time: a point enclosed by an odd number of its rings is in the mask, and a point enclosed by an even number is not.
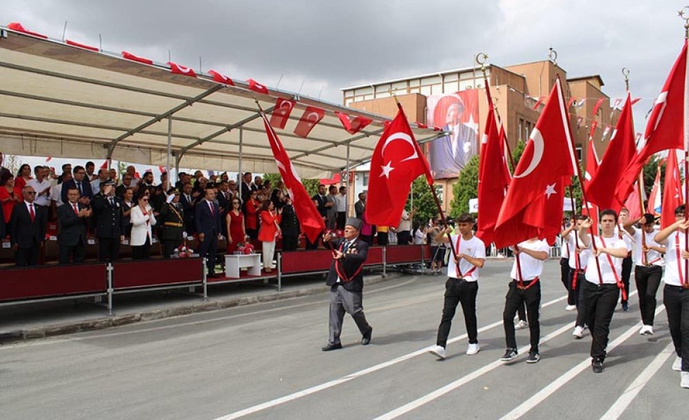
{"type": "Polygon", "coordinates": [[[655,216],[650,213],[635,220],[628,220],[624,223],[624,229],[634,238],[632,249],[635,262],[634,279],[639,291],[641,322],[644,324],[639,334],[653,335],[655,295],[663,277],[663,254],[666,248],[655,242],[658,230],[655,227],[655,216]],[[641,229],[634,227],[639,222],[641,222],[641,229]]]}

